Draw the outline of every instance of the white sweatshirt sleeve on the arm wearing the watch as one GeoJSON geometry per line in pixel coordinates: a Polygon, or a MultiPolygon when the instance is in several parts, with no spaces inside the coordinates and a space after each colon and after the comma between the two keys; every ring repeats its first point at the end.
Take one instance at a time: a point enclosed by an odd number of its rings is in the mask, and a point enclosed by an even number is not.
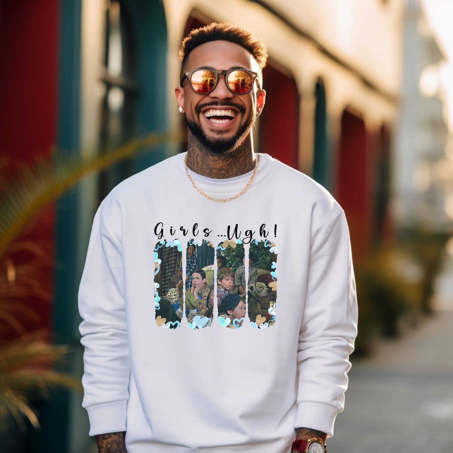
{"type": "Polygon", "coordinates": [[[298,411],[295,428],[333,435],[343,410],[349,355],[357,335],[357,296],[351,246],[342,209],[317,232],[310,248],[299,333],[298,411]]]}

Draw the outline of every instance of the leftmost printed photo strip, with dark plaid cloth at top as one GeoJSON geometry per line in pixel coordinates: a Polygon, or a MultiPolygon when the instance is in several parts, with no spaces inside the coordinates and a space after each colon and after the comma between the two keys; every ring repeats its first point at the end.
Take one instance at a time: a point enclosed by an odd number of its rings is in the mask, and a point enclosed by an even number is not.
{"type": "Polygon", "coordinates": [[[162,239],[154,247],[154,306],[156,324],[176,329],[183,310],[182,245],[162,239]]]}

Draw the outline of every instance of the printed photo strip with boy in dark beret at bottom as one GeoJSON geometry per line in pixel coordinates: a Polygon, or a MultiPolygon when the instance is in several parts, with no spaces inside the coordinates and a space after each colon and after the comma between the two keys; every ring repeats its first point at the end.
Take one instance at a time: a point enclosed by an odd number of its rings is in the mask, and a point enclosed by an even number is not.
{"type": "Polygon", "coordinates": [[[238,329],[246,318],[244,245],[241,239],[226,240],[217,246],[217,292],[210,303],[217,304],[218,323],[238,329]]]}

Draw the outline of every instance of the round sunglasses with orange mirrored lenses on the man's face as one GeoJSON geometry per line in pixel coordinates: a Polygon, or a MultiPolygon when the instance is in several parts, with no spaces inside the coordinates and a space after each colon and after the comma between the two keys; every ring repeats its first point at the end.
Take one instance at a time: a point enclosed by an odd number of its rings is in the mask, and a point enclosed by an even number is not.
{"type": "Polygon", "coordinates": [[[200,67],[193,71],[186,72],[181,79],[181,87],[184,79],[187,77],[192,90],[198,94],[208,94],[217,87],[219,74],[225,76],[225,82],[228,89],[233,94],[247,94],[253,87],[258,74],[248,69],[230,69],[228,71],[220,69],[208,69],[200,67]]]}

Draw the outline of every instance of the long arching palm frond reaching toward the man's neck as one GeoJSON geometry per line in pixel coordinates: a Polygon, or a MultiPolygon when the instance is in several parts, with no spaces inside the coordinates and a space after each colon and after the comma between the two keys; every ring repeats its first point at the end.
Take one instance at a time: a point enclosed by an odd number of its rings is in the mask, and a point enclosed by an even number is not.
{"type": "Polygon", "coordinates": [[[154,133],[106,153],[56,151],[38,159],[33,167],[24,167],[0,193],[0,256],[30,220],[87,174],[174,140],[179,140],[175,132],[154,133]]]}

